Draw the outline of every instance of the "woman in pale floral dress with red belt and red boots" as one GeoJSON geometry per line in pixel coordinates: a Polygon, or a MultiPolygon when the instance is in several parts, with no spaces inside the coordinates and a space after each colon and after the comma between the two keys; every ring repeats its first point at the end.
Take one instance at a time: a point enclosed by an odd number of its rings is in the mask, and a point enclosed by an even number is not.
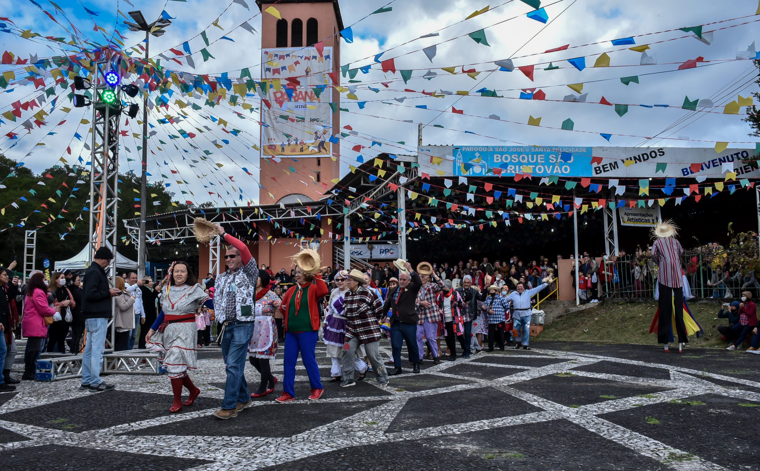
{"type": "Polygon", "coordinates": [[[201,393],[188,376],[198,364],[198,326],[195,317],[208,294],[195,280],[195,275],[185,262],[175,262],[169,270],[169,282],[160,296],[163,307],[156,322],[151,326],[145,342],[151,352],[158,353],[158,361],[167,371],[172,383],[174,402],[169,412],[179,412],[182,406],[192,406],[201,393]],[[182,402],[182,387],[190,395],[182,402]]]}

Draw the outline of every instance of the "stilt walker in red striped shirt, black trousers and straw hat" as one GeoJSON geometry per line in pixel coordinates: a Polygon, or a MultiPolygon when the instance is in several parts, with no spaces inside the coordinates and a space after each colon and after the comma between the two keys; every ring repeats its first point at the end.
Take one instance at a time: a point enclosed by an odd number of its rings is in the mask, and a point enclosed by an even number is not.
{"type": "Polygon", "coordinates": [[[689,342],[686,325],[683,322],[683,278],[681,272],[681,255],[683,247],[676,240],[678,228],[673,221],[662,221],[652,229],[654,243],[652,244],[652,259],[659,267],[657,269],[657,289],[660,298],[657,300],[659,322],[657,323],[657,342],[665,345],[668,350],[670,340],[671,319],[676,323],[678,332],[679,351],[682,343],[689,342]],[[675,300],[675,301],[673,301],[675,300]]]}

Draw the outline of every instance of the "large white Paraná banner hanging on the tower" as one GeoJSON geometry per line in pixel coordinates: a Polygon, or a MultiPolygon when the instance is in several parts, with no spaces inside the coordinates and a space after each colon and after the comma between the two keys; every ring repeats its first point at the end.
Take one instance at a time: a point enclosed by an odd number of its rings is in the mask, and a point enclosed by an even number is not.
{"type": "Polygon", "coordinates": [[[264,156],[331,155],[332,48],[261,50],[261,144],[264,156]]]}

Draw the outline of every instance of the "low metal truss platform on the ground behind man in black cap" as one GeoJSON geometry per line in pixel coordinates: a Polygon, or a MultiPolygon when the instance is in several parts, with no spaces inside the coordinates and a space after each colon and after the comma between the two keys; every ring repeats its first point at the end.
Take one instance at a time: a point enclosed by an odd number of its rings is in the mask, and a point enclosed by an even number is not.
{"type": "MultiPolygon", "coordinates": [[[[158,355],[147,350],[103,354],[100,374],[158,374],[158,355]]],[[[37,360],[39,381],[69,380],[82,376],[82,355],[43,353],[37,360]]]]}

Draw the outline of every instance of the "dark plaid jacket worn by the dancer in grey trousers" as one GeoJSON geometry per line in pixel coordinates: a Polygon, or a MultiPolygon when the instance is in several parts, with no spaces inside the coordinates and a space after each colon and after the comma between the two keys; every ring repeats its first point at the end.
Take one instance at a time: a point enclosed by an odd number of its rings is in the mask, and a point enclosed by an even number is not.
{"type": "Polygon", "coordinates": [[[346,342],[356,337],[359,344],[376,342],[383,338],[380,329],[382,301],[375,290],[359,286],[346,291],[343,315],[346,317],[346,342]]]}

